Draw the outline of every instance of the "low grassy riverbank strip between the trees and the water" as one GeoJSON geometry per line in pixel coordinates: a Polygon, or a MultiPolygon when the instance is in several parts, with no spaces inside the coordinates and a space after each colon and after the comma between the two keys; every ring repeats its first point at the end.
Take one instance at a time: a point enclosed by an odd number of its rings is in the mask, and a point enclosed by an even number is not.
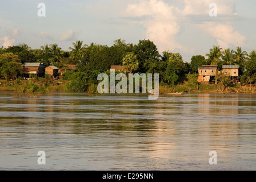
{"type": "MultiPolygon", "coordinates": [[[[46,78],[33,78],[31,80],[13,80],[6,81],[0,80],[0,91],[13,91],[19,93],[47,93],[47,92],[70,92],[68,84],[70,81],[67,80],[51,80],[46,78]]],[[[97,85],[94,85],[91,89],[90,87],[86,90],[87,93],[98,94],[97,85]]],[[[222,86],[220,85],[201,85],[201,84],[191,84],[190,82],[185,82],[179,85],[169,85],[160,84],[159,94],[167,94],[173,92],[173,89],[177,92],[183,93],[250,93],[256,94],[255,86],[239,86],[233,85],[228,86],[222,92],[222,86]],[[250,90],[251,89],[251,90],[250,90]]]]}

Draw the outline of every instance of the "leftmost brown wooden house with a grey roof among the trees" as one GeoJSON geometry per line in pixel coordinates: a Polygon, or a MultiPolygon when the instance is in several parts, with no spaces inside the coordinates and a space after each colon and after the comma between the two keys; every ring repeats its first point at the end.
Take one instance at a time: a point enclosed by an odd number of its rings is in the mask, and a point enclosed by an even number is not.
{"type": "Polygon", "coordinates": [[[43,63],[24,63],[23,76],[29,77],[30,75],[36,75],[37,77],[45,76],[45,66],[43,63]]]}

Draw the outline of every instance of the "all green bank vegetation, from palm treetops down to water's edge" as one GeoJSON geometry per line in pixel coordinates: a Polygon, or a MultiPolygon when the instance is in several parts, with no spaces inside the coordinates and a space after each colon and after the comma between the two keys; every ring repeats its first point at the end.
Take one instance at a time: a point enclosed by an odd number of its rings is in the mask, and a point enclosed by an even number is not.
{"type": "MultiPolygon", "coordinates": [[[[63,51],[57,44],[31,49],[26,44],[0,48],[0,90],[20,93],[86,92],[97,94],[99,73],[110,76],[111,65],[122,65],[128,73],[159,73],[159,94],[172,92],[229,92],[254,93],[256,81],[256,52],[249,54],[237,47],[235,51],[213,46],[205,56],[195,55],[190,63],[183,61],[179,53],[164,51],[159,54],[157,46],[150,40],[139,40],[138,44],[126,44],[125,40],[114,41],[113,46],[76,41],[70,51],[63,51]],[[77,71],[67,71],[60,80],[22,78],[23,63],[43,63],[64,68],[65,64],[77,65],[77,71]],[[198,67],[202,65],[239,65],[240,84],[234,85],[228,76],[218,75],[217,85],[198,84],[198,67]]],[[[116,71],[116,74],[119,72],[116,71]]],[[[128,80],[129,81],[129,80],[128,80]]]]}

